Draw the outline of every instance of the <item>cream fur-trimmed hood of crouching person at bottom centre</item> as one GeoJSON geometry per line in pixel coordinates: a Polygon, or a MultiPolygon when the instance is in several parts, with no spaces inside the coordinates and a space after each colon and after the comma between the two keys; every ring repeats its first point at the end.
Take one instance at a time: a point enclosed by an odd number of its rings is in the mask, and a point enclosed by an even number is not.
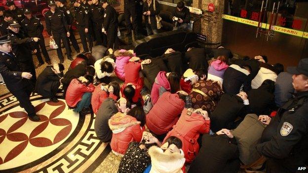
{"type": "Polygon", "coordinates": [[[150,173],[183,173],[185,164],[183,151],[181,153],[166,154],[157,146],[152,146],[148,151],[152,168],[150,173]]]}

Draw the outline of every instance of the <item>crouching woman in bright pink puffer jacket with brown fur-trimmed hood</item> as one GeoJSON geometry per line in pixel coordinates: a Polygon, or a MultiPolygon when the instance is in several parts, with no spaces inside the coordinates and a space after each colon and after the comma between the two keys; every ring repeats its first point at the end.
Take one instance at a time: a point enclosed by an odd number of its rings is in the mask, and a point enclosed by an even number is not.
{"type": "Polygon", "coordinates": [[[115,73],[118,78],[125,80],[124,66],[129,62],[131,57],[136,56],[135,53],[131,53],[125,49],[116,50],[114,53],[116,57],[115,73]]]}

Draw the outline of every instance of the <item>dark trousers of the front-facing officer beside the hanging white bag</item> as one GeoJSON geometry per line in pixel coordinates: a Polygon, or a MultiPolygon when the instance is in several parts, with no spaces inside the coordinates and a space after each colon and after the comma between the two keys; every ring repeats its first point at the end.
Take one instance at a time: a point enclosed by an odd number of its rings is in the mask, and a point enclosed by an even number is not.
{"type": "Polygon", "coordinates": [[[52,35],[53,35],[53,39],[55,40],[56,44],[58,45],[57,55],[58,55],[59,59],[64,60],[63,53],[62,53],[62,50],[61,50],[61,39],[63,41],[64,47],[65,47],[65,50],[66,50],[66,55],[68,57],[72,57],[72,52],[70,50],[70,45],[69,45],[69,41],[68,41],[68,37],[66,35],[66,32],[52,33],[52,35]]]}

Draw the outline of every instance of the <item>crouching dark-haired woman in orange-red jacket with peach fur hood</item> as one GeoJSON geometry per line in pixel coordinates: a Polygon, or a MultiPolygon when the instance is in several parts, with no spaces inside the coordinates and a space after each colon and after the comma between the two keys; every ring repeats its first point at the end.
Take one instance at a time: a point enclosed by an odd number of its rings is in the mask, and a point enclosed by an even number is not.
{"type": "Polygon", "coordinates": [[[142,107],[132,108],[127,115],[116,113],[108,121],[113,137],[110,142],[113,153],[123,156],[132,141],[140,142],[145,131],[146,116],[142,107]]]}

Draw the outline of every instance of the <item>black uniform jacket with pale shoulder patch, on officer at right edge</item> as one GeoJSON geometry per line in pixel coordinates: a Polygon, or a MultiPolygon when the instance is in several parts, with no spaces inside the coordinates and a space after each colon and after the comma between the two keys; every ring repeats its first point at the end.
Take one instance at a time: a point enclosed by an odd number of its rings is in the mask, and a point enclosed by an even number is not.
{"type": "Polygon", "coordinates": [[[278,109],[258,144],[260,154],[279,159],[281,166],[295,172],[308,163],[308,92],[299,92],[295,98],[278,109]]]}

